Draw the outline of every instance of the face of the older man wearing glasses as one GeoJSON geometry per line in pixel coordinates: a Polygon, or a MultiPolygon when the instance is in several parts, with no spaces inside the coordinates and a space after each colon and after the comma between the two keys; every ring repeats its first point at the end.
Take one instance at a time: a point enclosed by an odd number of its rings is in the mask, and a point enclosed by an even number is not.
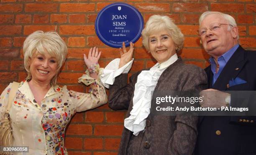
{"type": "MultiPolygon", "coordinates": [[[[229,24],[221,15],[211,14],[202,20],[200,29],[209,28],[218,23],[229,24]]],[[[218,30],[208,29],[205,35],[201,36],[202,46],[210,56],[218,58],[238,43],[237,27],[231,27],[231,30],[228,30],[228,26],[220,25],[218,30]]]]}

